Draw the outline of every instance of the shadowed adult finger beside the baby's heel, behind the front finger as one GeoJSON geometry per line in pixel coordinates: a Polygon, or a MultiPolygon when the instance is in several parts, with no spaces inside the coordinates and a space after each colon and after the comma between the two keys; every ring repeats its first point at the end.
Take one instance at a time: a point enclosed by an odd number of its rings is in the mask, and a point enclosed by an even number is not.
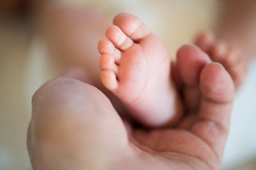
{"type": "Polygon", "coordinates": [[[184,45],[177,52],[177,67],[184,85],[184,100],[190,112],[196,112],[200,100],[199,76],[209,57],[196,46],[184,45]]]}

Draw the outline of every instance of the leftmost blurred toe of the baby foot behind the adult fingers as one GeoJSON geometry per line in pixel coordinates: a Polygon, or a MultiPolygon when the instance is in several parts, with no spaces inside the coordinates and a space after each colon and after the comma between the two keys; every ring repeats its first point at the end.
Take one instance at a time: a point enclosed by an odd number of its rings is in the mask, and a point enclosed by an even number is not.
{"type": "Polygon", "coordinates": [[[215,43],[215,37],[212,32],[203,31],[201,32],[195,41],[195,44],[199,46],[201,50],[205,53],[208,53],[209,50],[212,48],[213,44],[215,43]]]}

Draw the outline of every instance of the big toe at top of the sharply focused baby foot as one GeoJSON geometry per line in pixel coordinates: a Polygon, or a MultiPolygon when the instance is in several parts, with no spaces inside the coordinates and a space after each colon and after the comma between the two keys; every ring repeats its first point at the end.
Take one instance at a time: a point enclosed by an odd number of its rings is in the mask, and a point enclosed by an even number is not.
{"type": "Polygon", "coordinates": [[[141,21],[141,19],[127,13],[116,15],[113,19],[113,24],[121,28],[122,31],[135,42],[151,33],[150,29],[141,21]]]}

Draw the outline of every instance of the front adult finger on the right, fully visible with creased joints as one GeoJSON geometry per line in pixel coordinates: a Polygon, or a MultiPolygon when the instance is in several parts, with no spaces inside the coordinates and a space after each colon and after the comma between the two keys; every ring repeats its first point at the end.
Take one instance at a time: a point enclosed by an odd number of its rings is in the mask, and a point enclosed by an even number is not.
{"type": "Polygon", "coordinates": [[[234,84],[219,63],[205,66],[200,75],[201,101],[191,131],[213,148],[221,162],[229,130],[234,84]]]}

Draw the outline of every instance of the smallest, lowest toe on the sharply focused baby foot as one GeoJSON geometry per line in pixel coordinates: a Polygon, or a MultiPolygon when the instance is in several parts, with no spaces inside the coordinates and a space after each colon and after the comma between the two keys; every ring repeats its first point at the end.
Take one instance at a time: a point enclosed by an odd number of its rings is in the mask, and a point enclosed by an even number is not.
{"type": "Polygon", "coordinates": [[[118,82],[115,74],[111,70],[104,70],[101,72],[101,82],[104,84],[106,88],[110,91],[117,90],[118,82]]]}

